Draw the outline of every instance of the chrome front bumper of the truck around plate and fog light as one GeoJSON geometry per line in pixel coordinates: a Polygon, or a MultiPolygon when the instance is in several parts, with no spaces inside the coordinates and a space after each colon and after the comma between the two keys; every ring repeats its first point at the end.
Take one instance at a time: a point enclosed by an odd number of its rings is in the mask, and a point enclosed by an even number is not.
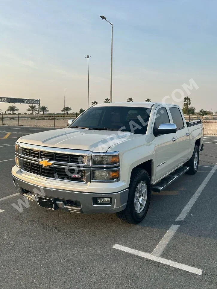
{"type": "Polygon", "coordinates": [[[65,209],[69,212],[84,214],[116,213],[126,208],[128,200],[128,189],[116,193],[103,194],[45,188],[25,182],[15,176],[13,176],[13,182],[17,191],[27,197],[28,200],[36,201],[35,196],[51,198],[54,201],[55,209],[65,209]],[[110,197],[112,200],[111,205],[95,205],[93,204],[93,198],[95,197],[110,197]]]}

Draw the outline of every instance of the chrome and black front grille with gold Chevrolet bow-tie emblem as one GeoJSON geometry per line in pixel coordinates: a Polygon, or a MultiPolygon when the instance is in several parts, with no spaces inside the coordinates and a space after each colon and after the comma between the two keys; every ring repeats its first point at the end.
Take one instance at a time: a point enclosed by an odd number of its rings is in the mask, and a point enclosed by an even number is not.
{"type": "Polygon", "coordinates": [[[23,171],[42,177],[85,183],[90,181],[91,152],[89,151],[20,143],[19,162],[23,171]],[[41,164],[47,160],[51,162],[50,165],[41,164]]]}

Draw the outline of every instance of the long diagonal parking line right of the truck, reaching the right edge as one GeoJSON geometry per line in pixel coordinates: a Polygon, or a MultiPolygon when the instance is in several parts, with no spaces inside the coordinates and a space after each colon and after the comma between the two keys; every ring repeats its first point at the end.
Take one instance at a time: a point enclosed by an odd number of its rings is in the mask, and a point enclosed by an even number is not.
{"type": "Polygon", "coordinates": [[[207,185],[207,183],[209,182],[209,180],[211,179],[211,177],[213,176],[213,174],[215,173],[217,169],[217,164],[214,165],[214,167],[212,168],[212,170],[210,171],[210,173],[208,174],[208,176],[205,178],[205,180],[202,182],[202,184],[199,186],[199,188],[197,189],[197,191],[195,192],[195,194],[192,196],[192,198],[189,200],[189,202],[187,203],[187,205],[184,207],[184,209],[182,210],[182,212],[180,213],[180,215],[176,218],[176,221],[182,221],[184,220],[184,218],[187,216],[187,214],[189,213],[190,209],[192,208],[192,206],[194,205],[194,203],[196,202],[196,200],[198,199],[198,197],[200,196],[200,194],[202,193],[203,189],[205,188],[205,186],[207,185]]]}

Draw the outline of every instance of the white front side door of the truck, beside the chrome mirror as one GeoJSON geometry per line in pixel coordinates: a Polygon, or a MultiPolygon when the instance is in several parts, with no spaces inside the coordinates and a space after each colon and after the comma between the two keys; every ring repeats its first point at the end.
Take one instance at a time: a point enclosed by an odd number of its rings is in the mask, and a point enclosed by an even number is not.
{"type": "MultiPolygon", "coordinates": [[[[165,107],[156,109],[154,126],[152,127],[152,133],[154,129],[158,128],[160,124],[169,124],[170,119],[168,111],[165,107]]],[[[154,137],[156,145],[156,177],[155,182],[170,171],[172,171],[177,164],[177,141],[176,134],[162,134],[154,137]]]]}

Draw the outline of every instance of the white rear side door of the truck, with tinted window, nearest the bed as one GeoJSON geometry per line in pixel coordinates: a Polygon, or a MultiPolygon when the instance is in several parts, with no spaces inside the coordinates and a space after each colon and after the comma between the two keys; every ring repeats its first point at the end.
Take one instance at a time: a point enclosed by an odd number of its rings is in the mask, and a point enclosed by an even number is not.
{"type": "Polygon", "coordinates": [[[179,107],[169,107],[172,122],[177,126],[177,166],[186,162],[189,155],[190,134],[179,107]]]}

